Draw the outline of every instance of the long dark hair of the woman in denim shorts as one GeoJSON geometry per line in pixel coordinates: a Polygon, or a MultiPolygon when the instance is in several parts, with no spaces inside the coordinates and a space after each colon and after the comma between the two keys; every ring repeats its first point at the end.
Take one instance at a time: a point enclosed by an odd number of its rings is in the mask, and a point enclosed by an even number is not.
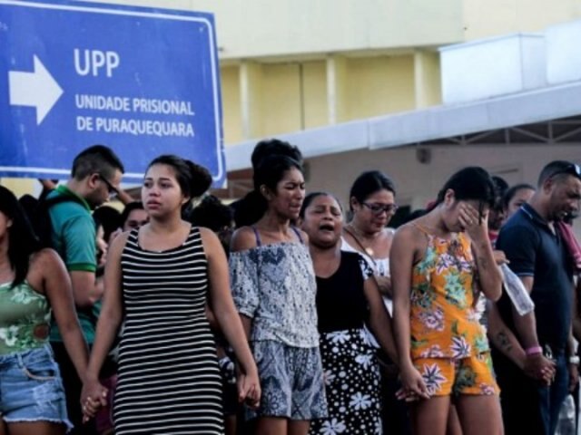
{"type": "Polygon", "coordinates": [[[11,190],[0,186],[0,212],[12,225],[6,228],[8,234],[8,260],[15,271],[12,288],[22,284],[30,266],[30,256],[40,249],[33,227],[11,190]]]}

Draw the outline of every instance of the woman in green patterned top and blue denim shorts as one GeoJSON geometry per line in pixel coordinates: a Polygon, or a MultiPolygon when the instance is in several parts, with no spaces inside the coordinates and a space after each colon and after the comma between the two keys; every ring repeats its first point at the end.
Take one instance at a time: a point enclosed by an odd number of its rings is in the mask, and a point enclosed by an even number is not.
{"type": "Polygon", "coordinates": [[[61,375],[48,344],[51,313],[83,377],[88,349],[69,277],[52,249],[40,249],[15,195],[0,186],[0,433],[63,434],[61,375]]]}

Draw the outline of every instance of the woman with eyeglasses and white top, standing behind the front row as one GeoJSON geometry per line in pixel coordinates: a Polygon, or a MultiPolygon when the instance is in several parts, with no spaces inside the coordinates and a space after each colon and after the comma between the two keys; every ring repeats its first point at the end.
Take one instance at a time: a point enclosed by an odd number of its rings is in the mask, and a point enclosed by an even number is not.
{"type": "MultiPolygon", "coordinates": [[[[391,277],[389,276],[389,251],[394,231],[389,221],[398,209],[393,181],[379,170],[369,170],[359,175],[350,189],[350,223],[343,227],[341,249],[357,252],[373,271],[383,302],[392,312],[391,277]]],[[[379,348],[373,336],[369,341],[379,348]]],[[[409,419],[405,405],[396,400],[399,390],[398,369],[395,362],[379,351],[382,372],[383,426],[392,433],[409,433],[409,419]]]]}

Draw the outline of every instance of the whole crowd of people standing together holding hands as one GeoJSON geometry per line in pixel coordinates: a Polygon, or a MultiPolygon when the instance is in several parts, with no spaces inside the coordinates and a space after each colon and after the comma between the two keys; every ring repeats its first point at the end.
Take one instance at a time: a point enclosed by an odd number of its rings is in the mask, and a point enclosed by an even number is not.
{"type": "Polygon", "coordinates": [[[287,142],[251,163],[229,205],[173,155],[132,198],[103,145],[35,208],[0,187],[0,434],[559,430],[578,388],[577,164],[547,163],[536,187],[460,169],[391,228],[380,170],[344,207],[306,194],[287,142]]]}

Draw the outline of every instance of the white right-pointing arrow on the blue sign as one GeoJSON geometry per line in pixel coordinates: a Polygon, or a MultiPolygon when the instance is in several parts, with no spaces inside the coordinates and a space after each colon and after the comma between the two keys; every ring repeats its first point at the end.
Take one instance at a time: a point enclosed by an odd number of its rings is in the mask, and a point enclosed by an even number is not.
{"type": "Polygon", "coordinates": [[[63,95],[61,87],[35,55],[34,73],[9,71],[8,83],[10,87],[10,104],[13,106],[35,107],[36,125],[40,125],[44,117],[63,95]]]}

